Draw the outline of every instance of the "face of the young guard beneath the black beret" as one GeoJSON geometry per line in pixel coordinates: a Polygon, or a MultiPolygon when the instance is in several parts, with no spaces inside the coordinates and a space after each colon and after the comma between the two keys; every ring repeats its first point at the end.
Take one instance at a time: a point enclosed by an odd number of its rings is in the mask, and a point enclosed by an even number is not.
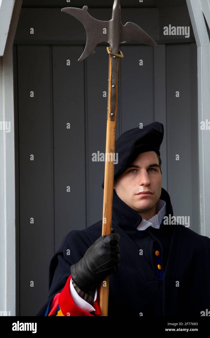
{"type": "MultiPolygon", "coordinates": [[[[140,153],[133,163],[115,180],[119,198],[137,212],[155,210],[161,195],[162,175],[155,151],[140,153]],[[152,194],[139,194],[149,191],[152,194]]],[[[155,214],[155,213],[154,213],[155,214]]]]}

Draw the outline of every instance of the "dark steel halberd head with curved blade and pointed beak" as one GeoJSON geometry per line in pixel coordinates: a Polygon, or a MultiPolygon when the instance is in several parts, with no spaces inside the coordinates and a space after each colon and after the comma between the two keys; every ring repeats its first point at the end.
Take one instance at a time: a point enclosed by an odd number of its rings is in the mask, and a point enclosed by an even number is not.
{"type": "Polygon", "coordinates": [[[138,25],[127,22],[122,25],[120,19],[120,0],[114,0],[112,19],[101,21],[93,18],[88,13],[88,6],[81,8],[65,7],[62,12],[72,15],[78,19],[86,30],[87,41],[83,54],[78,61],[84,60],[90,54],[95,54],[95,47],[100,42],[108,42],[112,46],[112,51],[118,50],[121,43],[130,40],[137,40],[149,46],[159,47],[156,42],[138,25]]]}

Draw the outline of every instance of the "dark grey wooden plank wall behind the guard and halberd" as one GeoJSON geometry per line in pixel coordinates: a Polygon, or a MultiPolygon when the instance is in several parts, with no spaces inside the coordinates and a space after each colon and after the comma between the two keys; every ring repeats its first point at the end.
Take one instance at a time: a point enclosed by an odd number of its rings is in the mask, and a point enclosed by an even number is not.
{"type": "MultiPolygon", "coordinates": [[[[183,8],[175,9],[177,20],[183,8]]],[[[158,35],[166,13],[168,23],[173,17],[171,9],[163,12],[161,19],[157,8],[122,8],[123,24],[137,23],[160,47],[120,47],[117,137],[140,122],[163,123],[162,186],[174,215],[190,216],[190,228],[199,233],[197,47],[192,30],[188,42],[158,35]]],[[[109,20],[111,8],[90,14],[109,20]]],[[[188,25],[187,15],[182,22],[188,25]]],[[[105,152],[108,53],[100,44],[78,62],[84,39],[83,26],[60,9],[22,8],[14,41],[21,316],[33,316],[47,300],[49,263],[65,234],[102,219],[104,163],[92,162],[92,153],[105,152]]]]}

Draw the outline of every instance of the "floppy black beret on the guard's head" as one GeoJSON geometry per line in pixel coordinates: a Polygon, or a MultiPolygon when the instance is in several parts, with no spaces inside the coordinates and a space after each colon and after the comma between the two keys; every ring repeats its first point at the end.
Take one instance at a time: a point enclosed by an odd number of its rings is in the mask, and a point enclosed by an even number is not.
{"type": "MultiPolygon", "coordinates": [[[[152,122],[142,128],[137,127],[123,132],[115,142],[118,163],[114,164],[114,180],[128,168],[141,152],[153,150],[160,156],[159,150],[163,133],[163,124],[160,122],[152,122]]],[[[104,188],[104,179],[102,188],[104,188]]]]}

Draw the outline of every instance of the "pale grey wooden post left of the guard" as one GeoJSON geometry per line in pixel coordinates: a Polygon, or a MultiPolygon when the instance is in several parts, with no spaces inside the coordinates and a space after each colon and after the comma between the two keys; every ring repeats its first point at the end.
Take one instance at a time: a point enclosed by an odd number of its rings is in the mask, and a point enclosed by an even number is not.
{"type": "Polygon", "coordinates": [[[12,47],[21,5],[22,0],[0,0],[0,122],[8,123],[0,124],[0,311],[11,316],[16,315],[12,47]]]}

